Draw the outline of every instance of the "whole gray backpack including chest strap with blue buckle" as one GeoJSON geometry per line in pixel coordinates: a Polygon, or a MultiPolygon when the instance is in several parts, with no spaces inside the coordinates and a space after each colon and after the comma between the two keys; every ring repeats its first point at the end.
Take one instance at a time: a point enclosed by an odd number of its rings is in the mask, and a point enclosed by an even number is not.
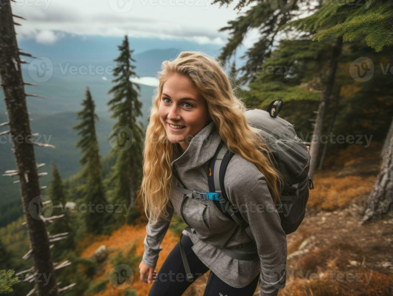
{"type": "MultiPolygon", "coordinates": [[[[274,158],[275,167],[285,176],[284,188],[281,191],[281,204],[276,204],[276,209],[281,219],[281,226],[286,234],[294,232],[305,215],[306,204],[309,199],[309,189],[314,189],[314,184],[309,178],[310,153],[305,143],[296,135],[296,126],[289,123],[277,114],[283,106],[283,101],[277,99],[264,110],[251,108],[246,111],[248,124],[258,131],[266,141],[274,158]]],[[[244,230],[254,241],[253,245],[240,249],[222,248],[228,256],[239,260],[255,260],[258,258],[255,239],[251,233],[250,226],[244,221],[241,214],[231,206],[224,188],[224,176],[226,167],[234,153],[228,150],[226,143],[221,141],[213,158],[209,162],[209,192],[191,191],[185,189],[176,170],[174,176],[184,188],[175,186],[178,191],[184,193],[185,201],[187,197],[194,199],[213,200],[217,208],[229,219],[242,225],[244,230]]],[[[272,191],[269,188],[270,194],[272,191]]],[[[182,208],[180,209],[182,213],[182,208]]],[[[184,217],[183,220],[185,221],[184,217]]],[[[185,229],[192,231],[189,226],[185,229]]],[[[180,239],[181,240],[181,239],[180,239]]],[[[182,253],[182,259],[187,274],[189,274],[187,260],[182,253]]]]}

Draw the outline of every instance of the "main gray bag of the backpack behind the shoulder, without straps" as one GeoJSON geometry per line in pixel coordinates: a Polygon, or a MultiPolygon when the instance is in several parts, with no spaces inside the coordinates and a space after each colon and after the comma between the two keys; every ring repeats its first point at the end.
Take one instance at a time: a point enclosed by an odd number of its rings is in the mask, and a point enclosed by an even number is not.
{"type": "Polygon", "coordinates": [[[276,168],[285,176],[281,205],[276,205],[276,208],[281,226],[288,234],[294,232],[303,221],[309,189],[314,189],[314,184],[308,176],[310,153],[296,135],[296,125],[277,116],[282,106],[283,101],[277,99],[270,103],[266,111],[248,109],[246,116],[249,125],[265,139],[274,156],[276,168]]]}

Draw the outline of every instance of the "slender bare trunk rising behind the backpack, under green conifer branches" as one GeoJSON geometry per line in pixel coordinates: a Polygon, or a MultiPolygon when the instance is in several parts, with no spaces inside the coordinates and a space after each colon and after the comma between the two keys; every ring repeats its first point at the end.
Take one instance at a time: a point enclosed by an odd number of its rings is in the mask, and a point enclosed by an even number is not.
{"type": "Polygon", "coordinates": [[[317,166],[318,151],[320,147],[320,137],[322,135],[323,122],[325,121],[325,113],[329,105],[330,96],[332,94],[332,89],[333,89],[334,79],[336,76],[336,69],[337,69],[337,58],[341,53],[342,43],[343,43],[342,37],[338,37],[334,40],[329,73],[327,75],[325,85],[323,86],[322,100],[318,107],[318,114],[315,120],[314,131],[312,133],[312,139],[310,144],[311,162],[310,162],[310,171],[309,171],[309,177],[311,179],[314,175],[315,167],[317,166]]]}

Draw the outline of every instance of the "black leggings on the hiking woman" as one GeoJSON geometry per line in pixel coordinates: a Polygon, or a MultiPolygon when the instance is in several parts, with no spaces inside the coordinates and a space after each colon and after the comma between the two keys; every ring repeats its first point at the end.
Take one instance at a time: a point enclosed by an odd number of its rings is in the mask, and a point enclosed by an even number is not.
{"type": "MultiPolygon", "coordinates": [[[[192,280],[187,280],[185,277],[185,270],[182,257],[180,255],[180,245],[178,242],[172,249],[171,253],[169,253],[162,267],[158,271],[157,277],[150,289],[149,296],[180,296],[194,281],[201,281],[199,278],[209,270],[209,268],[199,260],[194,251],[191,249],[193,242],[187,235],[183,235],[182,245],[194,278],[192,280]]],[[[230,272],[230,270],[228,270],[228,272],[230,272]]],[[[203,296],[252,296],[255,292],[255,288],[257,287],[258,279],[259,274],[246,287],[234,288],[224,283],[221,279],[219,279],[218,276],[210,271],[203,296]]]]}

